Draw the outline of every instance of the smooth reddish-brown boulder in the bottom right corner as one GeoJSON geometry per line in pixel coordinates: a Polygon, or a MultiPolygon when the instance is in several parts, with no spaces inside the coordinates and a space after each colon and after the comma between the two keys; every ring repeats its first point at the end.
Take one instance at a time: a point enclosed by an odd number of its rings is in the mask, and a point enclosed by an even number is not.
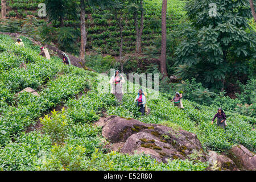
{"type": "Polygon", "coordinates": [[[236,163],[241,170],[256,170],[256,156],[244,146],[233,146],[229,150],[229,157],[236,163]]]}

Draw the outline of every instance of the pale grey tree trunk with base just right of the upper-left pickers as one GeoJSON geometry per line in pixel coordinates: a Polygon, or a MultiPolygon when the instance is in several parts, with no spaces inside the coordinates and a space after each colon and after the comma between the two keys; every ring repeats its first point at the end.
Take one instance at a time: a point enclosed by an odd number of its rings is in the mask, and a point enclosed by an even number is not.
{"type": "Polygon", "coordinates": [[[85,3],[84,0],[80,0],[80,7],[81,7],[81,46],[80,46],[80,59],[84,60],[85,58],[85,47],[86,47],[86,42],[87,42],[87,37],[86,37],[86,29],[85,29],[85,3]]]}

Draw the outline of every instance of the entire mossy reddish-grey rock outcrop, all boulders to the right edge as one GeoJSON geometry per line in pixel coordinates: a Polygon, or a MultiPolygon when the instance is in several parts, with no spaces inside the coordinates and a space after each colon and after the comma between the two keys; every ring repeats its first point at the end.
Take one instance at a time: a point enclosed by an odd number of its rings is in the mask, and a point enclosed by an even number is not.
{"type": "Polygon", "coordinates": [[[210,164],[207,170],[256,169],[256,156],[241,145],[232,147],[228,155],[215,151],[206,154],[196,134],[188,131],[116,115],[101,118],[96,125],[102,126],[102,135],[110,142],[106,148],[110,150],[130,155],[149,154],[163,163],[168,159],[200,160],[210,164]]]}

